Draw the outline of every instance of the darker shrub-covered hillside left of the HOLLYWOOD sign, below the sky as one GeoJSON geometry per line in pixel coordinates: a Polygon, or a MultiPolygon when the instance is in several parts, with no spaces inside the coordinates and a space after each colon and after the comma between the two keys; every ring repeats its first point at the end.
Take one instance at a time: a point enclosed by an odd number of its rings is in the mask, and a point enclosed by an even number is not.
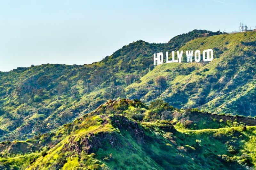
{"type": "Polygon", "coordinates": [[[0,139],[45,133],[122,96],[124,77],[145,74],[147,57],[163,46],[140,40],[90,65],[46,64],[0,72],[0,139]],[[38,82],[42,77],[44,84],[38,82]]]}

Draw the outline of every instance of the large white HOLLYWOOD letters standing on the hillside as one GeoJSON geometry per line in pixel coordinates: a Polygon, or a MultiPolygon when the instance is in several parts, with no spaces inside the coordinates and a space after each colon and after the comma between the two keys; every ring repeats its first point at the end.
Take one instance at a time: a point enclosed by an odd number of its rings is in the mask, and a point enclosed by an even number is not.
{"type": "MultiPolygon", "coordinates": [[[[166,63],[183,63],[183,51],[177,51],[177,59],[175,60],[175,51],[172,51],[172,60],[169,60],[169,54],[168,52],[165,52],[166,56],[166,63]]],[[[194,60],[196,62],[201,62],[201,52],[199,50],[196,50],[195,53],[192,51],[186,51],[187,56],[187,62],[193,62],[193,54],[194,54],[194,60]]],[[[210,62],[213,60],[213,51],[212,49],[204,50],[203,51],[203,61],[204,62],[210,62]]],[[[160,65],[164,63],[164,54],[163,53],[154,53],[154,65],[160,65]]]]}

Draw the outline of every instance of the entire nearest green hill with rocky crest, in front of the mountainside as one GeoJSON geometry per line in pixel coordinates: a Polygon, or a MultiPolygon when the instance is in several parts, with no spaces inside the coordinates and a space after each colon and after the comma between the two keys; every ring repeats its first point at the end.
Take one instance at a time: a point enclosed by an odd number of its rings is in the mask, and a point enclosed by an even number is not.
{"type": "Polygon", "coordinates": [[[110,100],[58,131],[1,143],[0,167],[249,169],[256,165],[255,125],[252,118],[180,110],[160,100],[149,106],[110,100]]]}

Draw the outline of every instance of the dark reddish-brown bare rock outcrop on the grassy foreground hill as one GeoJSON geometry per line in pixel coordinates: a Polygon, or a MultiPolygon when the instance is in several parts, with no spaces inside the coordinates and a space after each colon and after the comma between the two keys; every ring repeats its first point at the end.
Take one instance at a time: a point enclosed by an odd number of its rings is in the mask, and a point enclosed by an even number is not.
{"type": "MultiPolygon", "coordinates": [[[[127,131],[131,134],[139,144],[145,143],[147,138],[144,131],[139,127],[137,122],[133,122],[128,118],[121,115],[113,115],[108,117],[111,121],[108,122],[107,115],[101,115],[104,122],[102,124],[111,123],[114,127],[121,131],[127,131]]],[[[105,125],[104,124],[104,125],[105,125]]],[[[122,132],[121,132],[122,133],[122,132]]],[[[114,147],[121,147],[120,142],[118,142],[118,137],[116,132],[98,132],[97,134],[88,133],[85,136],[70,136],[68,142],[63,146],[63,151],[91,154],[96,152],[99,148],[107,147],[106,144],[114,147]]],[[[109,146],[108,145],[108,146],[109,146]]]]}

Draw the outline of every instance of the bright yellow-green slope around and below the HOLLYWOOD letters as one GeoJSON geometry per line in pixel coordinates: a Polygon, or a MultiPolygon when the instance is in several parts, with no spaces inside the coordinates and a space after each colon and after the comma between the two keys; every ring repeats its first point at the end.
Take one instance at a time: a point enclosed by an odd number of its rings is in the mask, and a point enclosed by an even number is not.
{"type": "Polygon", "coordinates": [[[211,63],[165,63],[127,89],[132,88],[134,94],[144,89],[141,97],[144,102],[160,98],[179,108],[199,107],[214,113],[255,116],[255,41],[256,32],[194,39],[180,50],[202,52],[213,48],[211,63]],[[149,83],[158,76],[166,77],[165,89],[157,89],[155,83],[149,83]]]}

